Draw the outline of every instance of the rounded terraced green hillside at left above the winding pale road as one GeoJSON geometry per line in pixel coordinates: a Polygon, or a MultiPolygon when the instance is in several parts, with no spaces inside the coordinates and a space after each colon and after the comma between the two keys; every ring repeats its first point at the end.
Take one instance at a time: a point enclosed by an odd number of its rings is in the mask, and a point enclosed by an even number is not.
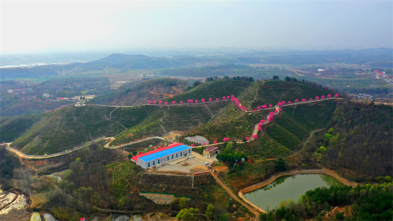
{"type": "Polygon", "coordinates": [[[64,108],[44,116],[11,146],[31,155],[51,154],[78,146],[91,138],[114,136],[140,123],[154,108],[116,109],[84,106],[64,108]],[[127,111],[126,111],[127,110],[127,111]],[[112,112],[113,111],[113,112],[112,112]],[[110,113],[112,112],[112,118],[110,113]]]}

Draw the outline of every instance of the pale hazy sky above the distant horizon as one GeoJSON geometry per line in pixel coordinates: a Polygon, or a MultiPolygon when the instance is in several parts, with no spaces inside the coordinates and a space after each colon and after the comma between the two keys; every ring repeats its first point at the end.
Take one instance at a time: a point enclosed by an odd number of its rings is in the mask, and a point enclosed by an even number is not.
{"type": "Polygon", "coordinates": [[[392,47],[388,1],[0,1],[1,53],[392,47]]]}

